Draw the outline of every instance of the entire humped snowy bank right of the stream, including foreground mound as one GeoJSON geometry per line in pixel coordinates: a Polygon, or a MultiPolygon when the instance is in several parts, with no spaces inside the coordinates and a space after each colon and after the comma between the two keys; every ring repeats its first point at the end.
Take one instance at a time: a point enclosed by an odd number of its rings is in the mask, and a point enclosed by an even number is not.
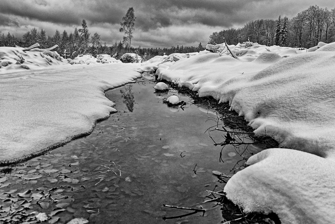
{"type": "MultiPolygon", "coordinates": [[[[251,157],[252,165],[228,182],[229,199],[246,211],[273,211],[282,223],[330,223],[335,219],[335,213],[326,209],[335,204],[335,43],[313,52],[264,45],[229,47],[238,59],[202,51],[155,59],[139,69],[158,66],[159,80],[177,82],[200,97],[229,101],[256,134],[272,136],[290,148],[271,149],[264,162],[258,163],[265,151],[251,157]],[[310,169],[313,172],[305,172],[310,169]],[[287,196],[291,200],[285,201],[287,196]]],[[[217,46],[216,52],[221,49],[217,46]]]]}

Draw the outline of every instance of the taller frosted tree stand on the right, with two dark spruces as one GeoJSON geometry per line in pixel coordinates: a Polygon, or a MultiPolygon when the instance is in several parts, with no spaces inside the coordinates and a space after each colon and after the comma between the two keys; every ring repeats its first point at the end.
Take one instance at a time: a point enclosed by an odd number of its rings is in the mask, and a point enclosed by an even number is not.
{"type": "Polygon", "coordinates": [[[228,44],[252,41],[267,46],[309,48],[319,41],[330,43],[335,41],[335,7],[329,10],[315,5],[291,19],[279,15],[277,20],[250,21],[242,28],[213,32],[209,36],[209,43],[222,43],[223,35],[228,44]]]}

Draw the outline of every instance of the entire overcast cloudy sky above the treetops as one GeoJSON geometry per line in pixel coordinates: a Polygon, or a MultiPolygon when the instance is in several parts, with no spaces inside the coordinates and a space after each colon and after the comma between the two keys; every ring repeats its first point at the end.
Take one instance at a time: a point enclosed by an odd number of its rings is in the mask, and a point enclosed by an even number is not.
{"type": "Polygon", "coordinates": [[[122,40],[120,22],[135,10],[134,47],[197,46],[214,31],[243,27],[251,20],[292,18],[310,5],[335,7],[334,0],[0,0],[0,32],[18,39],[36,27],[47,35],[68,34],[86,20],[104,44],[122,40]]]}

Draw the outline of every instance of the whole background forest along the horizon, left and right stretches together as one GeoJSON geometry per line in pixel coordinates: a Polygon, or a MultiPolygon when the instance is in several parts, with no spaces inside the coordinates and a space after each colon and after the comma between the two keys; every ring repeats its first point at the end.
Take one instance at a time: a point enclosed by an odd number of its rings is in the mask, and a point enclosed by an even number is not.
{"type": "MultiPolygon", "coordinates": [[[[298,13],[297,16],[289,19],[281,17],[277,20],[258,19],[247,22],[243,28],[230,28],[214,32],[209,36],[208,43],[222,43],[223,36],[228,44],[237,44],[245,41],[257,42],[259,44],[271,46],[290,47],[312,47],[319,41],[325,43],[335,41],[335,8],[328,10],[315,6],[298,13]]],[[[29,47],[35,43],[40,44],[40,48],[50,48],[58,45],[55,50],[64,58],[75,58],[79,54],[109,54],[119,59],[124,53],[137,53],[144,60],[156,55],[169,55],[171,53],[190,53],[205,48],[201,43],[198,46],[171,46],[170,48],[141,48],[129,47],[129,43],[115,41],[112,46],[102,45],[100,35],[94,33],[90,35],[85,20],[82,21],[82,28],[75,28],[73,33],[64,30],[60,33],[56,30],[53,36],[47,36],[46,31],[36,28],[27,31],[22,40],[18,40],[13,34],[0,33],[0,46],[21,46],[29,47]]]]}

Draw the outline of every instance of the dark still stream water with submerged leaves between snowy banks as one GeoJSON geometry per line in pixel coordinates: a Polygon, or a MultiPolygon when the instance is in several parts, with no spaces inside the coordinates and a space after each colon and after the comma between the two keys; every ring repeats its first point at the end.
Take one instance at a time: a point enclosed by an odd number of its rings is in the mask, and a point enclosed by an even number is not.
{"type": "MultiPolygon", "coordinates": [[[[188,211],[162,205],[211,209],[215,203],[197,204],[208,200],[206,190],[222,189],[212,171],[229,174],[240,155],[226,146],[224,162],[219,161],[221,147],[204,133],[218,123],[214,111],[191,104],[176,91],[155,93],[155,84],[140,81],[106,92],[118,112],[98,122],[89,136],[19,164],[10,175],[1,174],[0,216],[19,210],[10,206],[24,198],[27,214],[46,213],[57,223],[78,217],[99,224],[220,223],[219,206],[204,217],[197,213],[163,221],[188,211]],[[184,110],[162,103],[172,94],[188,102],[184,110]],[[31,192],[17,196],[26,190],[31,192]]],[[[210,134],[223,141],[222,132],[210,134]]]]}

